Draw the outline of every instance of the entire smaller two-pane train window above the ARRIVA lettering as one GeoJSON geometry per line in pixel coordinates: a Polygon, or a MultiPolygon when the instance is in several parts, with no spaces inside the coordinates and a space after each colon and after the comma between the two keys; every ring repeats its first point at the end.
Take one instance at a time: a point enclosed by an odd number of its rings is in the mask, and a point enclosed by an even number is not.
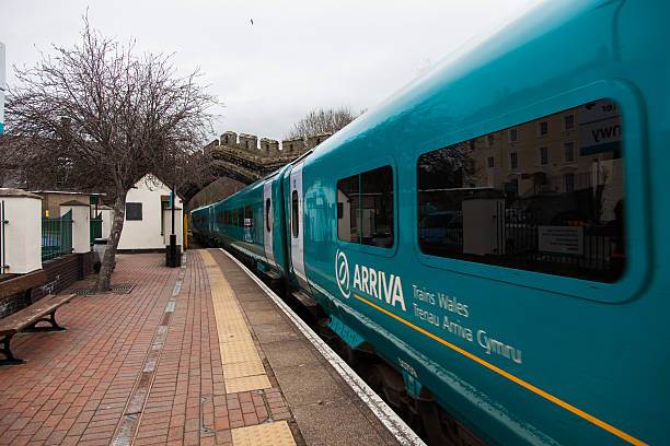
{"type": "Polygon", "coordinates": [[[337,181],[337,237],[390,248],[394,239],[393,169],[383,166],[337,181]]]}

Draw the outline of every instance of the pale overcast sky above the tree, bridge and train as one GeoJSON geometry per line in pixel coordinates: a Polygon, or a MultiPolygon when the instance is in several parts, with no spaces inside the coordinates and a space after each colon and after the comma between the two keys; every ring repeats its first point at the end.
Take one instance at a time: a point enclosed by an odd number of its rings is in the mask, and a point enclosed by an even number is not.
{"type": "Polygon", "coordinates": [[[106,36],[200,68],[226,130],[281,140],[316,107],[370,108],[536,0],[0,0],[0,42],[33,66],[80,39],[82,14],[106,36]],[[252,21],[253,20],[253,24],[252,21]]]}

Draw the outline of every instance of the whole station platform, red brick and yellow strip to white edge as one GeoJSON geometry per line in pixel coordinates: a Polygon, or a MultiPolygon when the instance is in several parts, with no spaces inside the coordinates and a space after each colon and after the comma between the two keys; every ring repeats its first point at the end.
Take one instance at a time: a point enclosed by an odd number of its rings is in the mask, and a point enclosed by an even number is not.
{"type": "Polygon", "coordinates": [[[0,444],[420,444],[227,253],[118,255],[112,283],[57,312],[67,331],[14,337],[0,444]]]}

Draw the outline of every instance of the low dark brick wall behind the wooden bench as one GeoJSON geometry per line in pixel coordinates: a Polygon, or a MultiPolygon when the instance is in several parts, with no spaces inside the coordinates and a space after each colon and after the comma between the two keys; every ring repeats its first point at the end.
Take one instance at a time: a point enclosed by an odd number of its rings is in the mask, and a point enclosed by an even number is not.
{"type": "MultiPolygon", "coordinates": [[[[70,254],[54,260],[45,261],[42,268],[47,274],[47,283],[33,290],[32,301],[36,302],[47,294],[56,294],[83,279],[92,271],[93,253],[70,254]]],[[[23,293],[0,302],[0,318],[9,316],[25,307],[23,293]]]]}

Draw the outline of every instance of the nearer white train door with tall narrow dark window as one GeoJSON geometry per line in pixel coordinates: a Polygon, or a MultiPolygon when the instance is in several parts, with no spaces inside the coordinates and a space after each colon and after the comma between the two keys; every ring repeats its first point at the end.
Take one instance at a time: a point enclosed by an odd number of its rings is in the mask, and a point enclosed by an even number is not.
{"type": "Polygon", "coordinates": [[[304,273],[304,214],[302,207],[302,163],[291,169],[290,189],[290,234],[291,234],[291,265],[298,283],[304,290],[310,290],[304,273]]]}

